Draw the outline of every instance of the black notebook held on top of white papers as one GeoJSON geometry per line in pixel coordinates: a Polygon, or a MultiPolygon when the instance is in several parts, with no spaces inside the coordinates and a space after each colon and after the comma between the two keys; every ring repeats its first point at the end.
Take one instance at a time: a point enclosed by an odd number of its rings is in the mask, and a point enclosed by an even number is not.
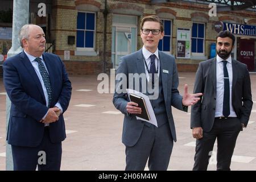
{"type": "Polygon", "coordinates": [[[144,98],[140,97],[140,96],[137,96],[135,94],[132,94],[132,93],[130,93],[129,96],[130,96],[130,100],[132,102],[137,103],[138,107],[141,107],[141,110],[142,110],[141,114],[135,114],[135,115],[149,121],[150,120],[150,115],[147,111],[147,106],[146,106],[146,102],[145,102],[144,98]]]}

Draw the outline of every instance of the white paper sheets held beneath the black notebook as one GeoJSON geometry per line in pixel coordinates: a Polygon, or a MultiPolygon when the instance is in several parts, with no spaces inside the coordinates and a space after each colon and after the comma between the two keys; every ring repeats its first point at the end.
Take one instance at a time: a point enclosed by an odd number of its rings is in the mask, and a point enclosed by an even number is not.
{"type": "MultiPolygon", "coordinates": [[[[148,121],[148,120],[140,118],[140,117],[136,117],[136,119],[140,119],[142,121],[149,122],[152,125],[155,125],[156,127],[158,127],[158,122],[156,122],[155,113],[154,113],[154,110],[152,108],[152,105],[150,103],[148,96],[146,96],[145,94],[143,94],[141,92],[138,92],[137,90],[133,90],[133,89],[126,89],[126,91],[127,91],[128,96],[129,96],[129,93],[133,93],[139,97],[143,97],[144,101],[146,102],[146,107],[147,107],[148,114],[150,115],[150,120],[148,121]]],[[[130,98],[130,96],[129,96],[129,98],[130,98]]]]}

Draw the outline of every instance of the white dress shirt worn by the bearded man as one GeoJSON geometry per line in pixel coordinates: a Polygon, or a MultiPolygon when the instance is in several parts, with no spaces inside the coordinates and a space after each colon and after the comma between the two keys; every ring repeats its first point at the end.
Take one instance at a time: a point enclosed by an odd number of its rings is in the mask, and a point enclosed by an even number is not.
{"type": "MultiPolygon", "coordinates": [[[[216,56],[216,110],[215,117],[223,117],[223,99],[224,99],[224,72],[223,72],[223,59],[220,56],[216,56]]],[[[233,106],[232,106],[232,81],[233,81],[233,71],[232,71],[232,58],[231,56],[226,59],[228,63],[226,67],[229,73],[229,106],[230,115],[229,117],[237,117],[233,106]]]]}

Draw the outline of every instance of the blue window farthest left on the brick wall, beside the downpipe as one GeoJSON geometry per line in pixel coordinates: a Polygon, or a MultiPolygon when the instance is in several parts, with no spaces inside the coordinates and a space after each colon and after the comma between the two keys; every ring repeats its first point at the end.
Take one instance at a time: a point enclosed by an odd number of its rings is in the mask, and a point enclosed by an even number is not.
{"type": "Polygon", "coordinates": [[[76,47],[94,48],[95,13],[77,13],[76,47]]]}

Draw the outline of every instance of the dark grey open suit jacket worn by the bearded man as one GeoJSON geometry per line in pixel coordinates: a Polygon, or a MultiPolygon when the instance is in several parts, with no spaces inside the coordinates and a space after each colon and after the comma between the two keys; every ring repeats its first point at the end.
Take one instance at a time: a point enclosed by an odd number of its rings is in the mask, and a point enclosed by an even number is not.
{"type": "MultiPolygon", "coordinates": [[[[251,82],[247,66],[232,59],[232,106],[241,123],[247,125],[253,107],[251,82]]],[[[191,128],[212,129],[216,107],[216,57],[199,64],[194,93],[203,93],[200,102],[191,107],[191,128]]]]}

